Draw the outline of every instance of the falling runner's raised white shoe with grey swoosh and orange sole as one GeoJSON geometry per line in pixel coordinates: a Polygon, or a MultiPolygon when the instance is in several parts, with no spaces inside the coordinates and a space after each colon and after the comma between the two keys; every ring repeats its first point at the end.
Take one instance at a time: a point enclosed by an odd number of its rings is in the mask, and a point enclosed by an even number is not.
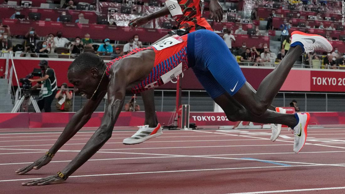
{"type": "Polygon", "coordinates": [[[333,50],[332,44],[329,41],[317,34],[307,34],[300,31],[293,31],[291,33],[291,45],[295,42],[300,42],[304,46],[304,52],[314,52],[317,50],[331,52],[333,50]]]}

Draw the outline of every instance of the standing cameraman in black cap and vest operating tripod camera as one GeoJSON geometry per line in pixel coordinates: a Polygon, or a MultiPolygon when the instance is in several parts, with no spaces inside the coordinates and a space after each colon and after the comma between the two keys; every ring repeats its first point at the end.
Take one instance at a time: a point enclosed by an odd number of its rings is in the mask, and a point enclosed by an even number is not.
{"type": "Polygon", "coordinates": [[[40,82],[32,86],[31,90],[37,89],[41,86],[41,91],[38,96],[38,107],[40,110],[44,108],[45,112],[51,112],[51,103],[55,98],[57,91],[55,71],[48,66],[48,61],[41,60],[38,64],[43,71],[42,77],[36,80],[29,79],[30,82],[40,82]]]}

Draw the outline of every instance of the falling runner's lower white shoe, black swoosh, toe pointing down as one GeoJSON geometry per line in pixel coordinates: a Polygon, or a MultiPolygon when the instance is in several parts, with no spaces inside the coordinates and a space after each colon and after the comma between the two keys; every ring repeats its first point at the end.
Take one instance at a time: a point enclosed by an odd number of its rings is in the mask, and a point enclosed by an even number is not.
{"type": "Polygon", "coordinates": [[[309,113],[295,113],[297,125],[294,127],[293,132],[295,135],[294,152],[297,154],[307,140],[307,127],[310,119],[309,113]]]}

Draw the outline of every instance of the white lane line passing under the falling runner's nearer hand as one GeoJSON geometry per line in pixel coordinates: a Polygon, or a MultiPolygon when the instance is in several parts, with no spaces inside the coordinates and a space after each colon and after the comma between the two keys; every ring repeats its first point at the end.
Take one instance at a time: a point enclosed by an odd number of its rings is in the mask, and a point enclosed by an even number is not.
{"type": "MultiPolygon", "coordinates": [[[[113,173],[113,174],[90,174],[90,175],[69,176],[69,178],[73,178],[73,177],[89,177],[89,176],[111,176],[111,175],[131,175],[131,174],[172,173],[172,172],[197,172],[197,171],[222,171],[222,170],[288,168],[288,167],[302,167],[302,166],[323,166],[323,165],[258,166],[258,167],[240,167],[240,168],[225,168],[225,169],[193,169],[193,170],[178,170],[178,171],[153,171],[153,172],[132,172],[132,173],[113,173]]],[[[26,181],[26,180],[35,180],[35,179],[39,179],[39,178],[23,178],[23,179],[12,179],[12,180],[0,180],[0,182],[26,181]]]]}

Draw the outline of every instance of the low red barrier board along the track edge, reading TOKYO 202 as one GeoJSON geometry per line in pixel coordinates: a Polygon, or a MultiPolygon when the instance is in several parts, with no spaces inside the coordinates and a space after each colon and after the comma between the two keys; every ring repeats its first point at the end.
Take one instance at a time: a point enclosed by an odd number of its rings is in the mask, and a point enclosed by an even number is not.
{"type": "MultiPolygon", "coordinates": [[[[0,129],[7,128],[47,128],[65,127],[75,113],[0,113],[0,129]],[[59,118],[59,119],[57,119],[59,118]]],[[[158,121],[169,125],[173,112],[157,112],[158,121]]],[[[339,125],[345,124],[345,112],[311,112],[310,124],[339,125]]],[[[99,127],[103,112],[92,114],[85,127],[99,127]]],[[[138,126],[145,120],[145,112],[121,112],[115,126],[138,126]]],[[[228,121],[224,113],[191,112],[190,123],[197,126],[235,125],[228,121]]]]}

